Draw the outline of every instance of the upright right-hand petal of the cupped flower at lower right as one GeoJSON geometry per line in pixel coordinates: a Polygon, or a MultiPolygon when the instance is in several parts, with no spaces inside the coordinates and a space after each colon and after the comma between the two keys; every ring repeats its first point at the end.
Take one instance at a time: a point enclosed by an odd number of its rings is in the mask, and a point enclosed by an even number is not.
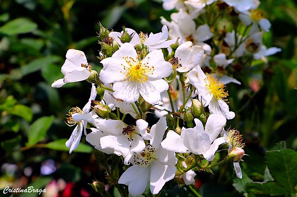
{"type": "Polygon", "coordinates": [[[208,134],[209,139],[213,142],[223,130],[226,125],[226,118],[220,114],[210,114],[205,124],[205,133],[208,134]]]}

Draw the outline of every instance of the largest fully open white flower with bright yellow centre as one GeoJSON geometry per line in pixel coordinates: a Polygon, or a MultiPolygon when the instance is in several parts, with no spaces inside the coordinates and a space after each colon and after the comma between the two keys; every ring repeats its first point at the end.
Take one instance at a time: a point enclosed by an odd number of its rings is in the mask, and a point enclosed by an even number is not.
{"type": "Polygon", "coordinates": [[[162,78],[172,72],[172,65],[164,60],[161,50],[154,50],[141,59],[133,45],[124,43],[111,57],[101,61],[103,69],[99,74],[104,84],[113,84],[113,96],[126,102],[135,102],[141,95],[154,104],[160,100],[160,93],[168,90],[162,78]]]}

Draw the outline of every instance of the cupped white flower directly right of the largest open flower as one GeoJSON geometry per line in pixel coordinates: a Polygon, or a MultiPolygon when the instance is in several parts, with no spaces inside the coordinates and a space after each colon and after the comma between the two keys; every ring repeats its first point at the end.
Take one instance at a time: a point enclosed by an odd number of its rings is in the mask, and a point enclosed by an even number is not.
{"type": "Polygon", "coordinates": [[[174,57],[177,60],[178,72],[188,72],[201,62],[204,50],[200,46],[192,46],[193,43],[188,41],[181,44],[175,51],[174,57]]]}

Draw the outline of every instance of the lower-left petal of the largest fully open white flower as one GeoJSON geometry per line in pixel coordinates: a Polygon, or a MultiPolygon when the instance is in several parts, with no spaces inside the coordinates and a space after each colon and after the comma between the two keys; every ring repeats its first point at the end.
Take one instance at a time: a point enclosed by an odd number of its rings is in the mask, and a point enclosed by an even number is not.
{"type": "Polygon", "coordinates": [[[135,102],[139,98],[137,82],[122,81],[113,84],[113,96],[116,99],[122,99],[126,102],[135,102]]]}

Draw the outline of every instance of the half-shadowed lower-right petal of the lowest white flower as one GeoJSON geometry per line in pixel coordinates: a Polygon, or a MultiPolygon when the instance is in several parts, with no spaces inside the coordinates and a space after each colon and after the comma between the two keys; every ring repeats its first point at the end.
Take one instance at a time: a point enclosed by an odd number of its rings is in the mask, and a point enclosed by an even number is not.
{"type": "Polygon", "coordinates": [[[167,181],[174,178],[176,168],[154,161],[150,164],[150,192],[158,194],[167,181]]]}

